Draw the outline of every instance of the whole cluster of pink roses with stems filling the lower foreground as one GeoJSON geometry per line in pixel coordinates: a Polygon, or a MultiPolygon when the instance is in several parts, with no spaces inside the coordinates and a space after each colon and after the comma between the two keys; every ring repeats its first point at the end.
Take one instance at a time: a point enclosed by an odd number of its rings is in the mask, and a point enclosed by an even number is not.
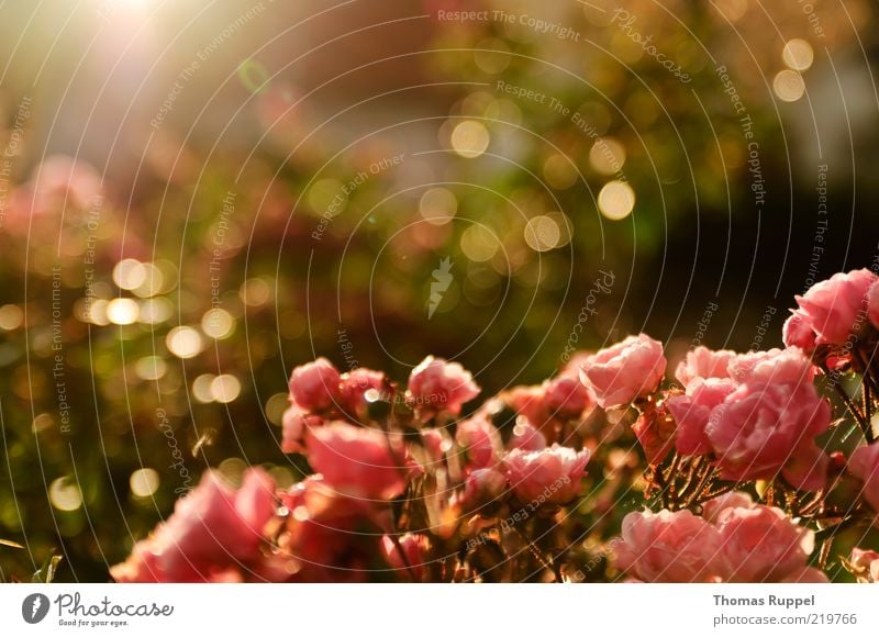
{"type": "MultiPolygon", "coordinates": [[[[283,417],[311,473],[208,473],[112,574],[827,581],[834,543],[879,528],[877,286],[859,270],[798,297],[785,349],[699,346],[672,379],[639,334],[469,412],[480,389],[457,362],[427,357],[402,388],[318,359],[292,371],[283,417]],[[641,511],[620,505],[633,491],[641,511]]],[[[839,566],[876,581],[879,555],[849,544],[839,566]]]]}

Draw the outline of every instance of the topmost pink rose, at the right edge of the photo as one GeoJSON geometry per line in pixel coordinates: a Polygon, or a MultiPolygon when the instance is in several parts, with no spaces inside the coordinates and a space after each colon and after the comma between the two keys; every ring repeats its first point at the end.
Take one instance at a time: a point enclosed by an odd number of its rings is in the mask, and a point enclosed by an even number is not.
{"type": "Polygon", "coordinates": [[[838,272],[795,297],[802,317],[819,335],[820,344],[843,345],[849,335],[860,331],[867,291],[876,279],[866,268],[838,272]]]}

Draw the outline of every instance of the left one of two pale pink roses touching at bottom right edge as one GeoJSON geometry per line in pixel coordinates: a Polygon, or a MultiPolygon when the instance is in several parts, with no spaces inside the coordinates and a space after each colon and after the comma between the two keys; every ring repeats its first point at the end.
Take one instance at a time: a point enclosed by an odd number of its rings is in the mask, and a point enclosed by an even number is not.
{"type": "Polygon", "coordinates": [[[720,534],[689,511],[630,513],[614,565],[644,582],[717,581],[720,534]]]}

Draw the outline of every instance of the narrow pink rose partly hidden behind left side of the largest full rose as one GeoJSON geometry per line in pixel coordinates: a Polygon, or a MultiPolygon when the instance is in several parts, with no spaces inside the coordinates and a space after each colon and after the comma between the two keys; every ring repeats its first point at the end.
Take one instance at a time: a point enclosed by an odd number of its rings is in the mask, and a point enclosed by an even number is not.
{"type": "Polygon", "coordinates": [[[683,456],[704,456],[711,454],[711,442],[705,427],[711,412],[735,390],[730,378],[694,377],[687,385],[687,394],[674,395],[665,405],[677,422],[675,447],[683,456]]]}

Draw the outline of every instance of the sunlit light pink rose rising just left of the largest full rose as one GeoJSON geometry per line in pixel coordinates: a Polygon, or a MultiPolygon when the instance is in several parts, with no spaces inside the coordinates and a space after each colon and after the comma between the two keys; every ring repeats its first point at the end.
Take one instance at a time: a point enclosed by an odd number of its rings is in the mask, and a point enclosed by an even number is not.
{"type": "Polygon", "coordinates": [[[638,334],[596,354],[581,368],[580,380],[596,402],[608,409],[652,394],[665,371],[663,344],[638,334]]]}

